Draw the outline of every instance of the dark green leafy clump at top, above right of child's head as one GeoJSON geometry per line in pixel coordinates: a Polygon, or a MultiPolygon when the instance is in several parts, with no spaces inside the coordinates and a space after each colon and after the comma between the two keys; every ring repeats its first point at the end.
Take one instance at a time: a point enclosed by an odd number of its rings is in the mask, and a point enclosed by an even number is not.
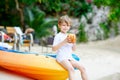
{"type": "Polygon", "coordinates": [[[70,1],[69,2],[71,8],[69,9],[69,14],[74,15],[75,17],[81,17],[82,15],[86,16],[88,12],[92,11],[91,4],[87,4],[85,0],[83,1],[70,1]]]}

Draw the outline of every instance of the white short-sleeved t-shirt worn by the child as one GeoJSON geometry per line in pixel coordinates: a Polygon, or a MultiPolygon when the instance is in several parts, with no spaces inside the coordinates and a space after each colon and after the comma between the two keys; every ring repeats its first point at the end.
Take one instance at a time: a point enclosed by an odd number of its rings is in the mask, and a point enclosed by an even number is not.
{"type": "MultiPolygon", "coordinates": [[[[59,32],[54,38],[53,46],[62,42],[66,37],[67,37],[67,34],[59,32]]],[[[70,60],[73,59],[72,46],[73,46],[72,43],[67,43],[58,49],[57,57],[56,57],[58,62],[61,62],[62,60],[65,60],[65,59],[70,59],[70,60]]]]}

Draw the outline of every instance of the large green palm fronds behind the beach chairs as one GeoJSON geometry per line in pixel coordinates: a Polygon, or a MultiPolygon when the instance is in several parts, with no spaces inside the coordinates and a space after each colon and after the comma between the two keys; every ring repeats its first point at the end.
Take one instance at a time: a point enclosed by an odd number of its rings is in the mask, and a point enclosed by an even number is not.
{"type": "Polygon", "coordinates": [[[38,7],[33,7],[32,9],[25,9],[26,18],[25,21],[30,27],[35,29],[37,37],[46,37],[52,35],[52,26],[57,23],[54,19],[45,19],[45,13],[41,11],[38,7]]]}

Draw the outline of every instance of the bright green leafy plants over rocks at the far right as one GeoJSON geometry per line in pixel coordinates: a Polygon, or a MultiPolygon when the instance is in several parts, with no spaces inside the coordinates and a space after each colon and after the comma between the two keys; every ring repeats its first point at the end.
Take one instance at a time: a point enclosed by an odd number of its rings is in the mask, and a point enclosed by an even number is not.
{"type": "Polygon", "coordinates": [[[117,23],[120,22],[120,0],[94,0],[94,4],[100,7],[109,6],[110,13],[108,15],[108,21],[105,23],[101,23],[100,26],[104,28],[104,32],[106,33],[106,37],[108,37],[108,32],[110,34],[110,30],[114,29],[115,35],[120,34],[118,30],[117,23]],[[114,24],[114,25],[113,25],[114,24]]]}

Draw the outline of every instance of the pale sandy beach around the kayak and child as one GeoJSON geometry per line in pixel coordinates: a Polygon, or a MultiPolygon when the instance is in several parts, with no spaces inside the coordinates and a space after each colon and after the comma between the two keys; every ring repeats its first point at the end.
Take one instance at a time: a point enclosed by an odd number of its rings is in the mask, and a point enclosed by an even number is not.
{"type": "MultiPolygon", "coordinates": [[[[26,47],[22,47],[26,51],[26,47]]],[[[47,48],[35,44],[31,52],[44,54],[47,48]]],[[[48,48],[49,53],[52,52],[48,48]]],[[[80,58],[88,73],[89,80],[120,80],[120,36],[104,41],[77,44],[74,52],[80,58]]],[[[30,78],[14,74],[0,67],[0,80],[30,80],[30,78]]],[[[31,79],[32,80],[32,79],[31,79]]],[[[76,79],[81,80],[80,73],[76,70],[76,79]]]]}

